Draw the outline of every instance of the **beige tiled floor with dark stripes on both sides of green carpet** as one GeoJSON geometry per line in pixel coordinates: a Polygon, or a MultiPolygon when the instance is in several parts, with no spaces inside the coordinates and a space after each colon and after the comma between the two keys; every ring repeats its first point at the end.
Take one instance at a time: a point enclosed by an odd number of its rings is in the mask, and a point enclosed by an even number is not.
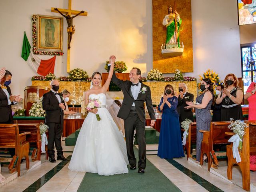
{"type": "MultiPolygon", "coordinates": [[[[66,157],[71,156],[74,146],[64,146],[64,142],[62,144],[64,155],[66,157]]],[[[161,159],[156,156],[157,148],[158,145],[147,145],[148,160],[181,191],[244,191],[240,186],[208,172],[207,164],[200,167],[193,160],[187,161],[186,158],[161,159]]],[[[64,162],[50,163],[42,157],[41,164],[37,164],[34,168],[24,172],[20,177],[0,187],[0,191],[75,192],[84,175],[84,172],[70,171],[68,164],[64,162]]],[[[236,179],[239,181],[239,178],[236,179]]]]}

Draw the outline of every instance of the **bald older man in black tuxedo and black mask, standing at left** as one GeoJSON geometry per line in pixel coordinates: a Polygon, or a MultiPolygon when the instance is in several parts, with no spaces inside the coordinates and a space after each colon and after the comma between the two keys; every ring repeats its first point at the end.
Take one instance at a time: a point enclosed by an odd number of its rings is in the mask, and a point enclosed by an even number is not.
{"type": "Polygon", "coordinates": [[[58,93],[60,84],[58,80],[52,80],[51,90],[43,95],[42,106],[45,110],[44,122],[49,126],[48,129],[48,154],[49,161],[55,163],[54,158],[54,144],[57,150],[57,160],[68,161],[67,158],[63,156],[62,146],[61,146],[61,135],[63,131],[63,117],[64,110],[66,106],[64,104],[64,99],[61,94],[58,93]]]}

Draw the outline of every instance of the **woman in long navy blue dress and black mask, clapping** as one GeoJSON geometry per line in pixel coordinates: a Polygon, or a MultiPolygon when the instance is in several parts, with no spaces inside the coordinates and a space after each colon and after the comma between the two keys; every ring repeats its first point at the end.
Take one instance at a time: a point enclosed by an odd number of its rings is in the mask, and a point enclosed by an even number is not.
{"type": "Polygon", "coordinates": [[[179,115],[176,111],[178,98],[174,96],[173,87],[166,85],[158,110],[162,112],[160,138],[157,155],[160,158],[184,157],[180,135],[179,115]]]}

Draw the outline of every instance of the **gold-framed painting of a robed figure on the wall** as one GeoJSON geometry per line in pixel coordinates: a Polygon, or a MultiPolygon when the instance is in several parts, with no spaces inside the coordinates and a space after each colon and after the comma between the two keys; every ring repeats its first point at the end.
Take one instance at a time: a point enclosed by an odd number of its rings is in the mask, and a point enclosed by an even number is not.
{"type": "Polygon", "coordinates": [[[38,15],[37,51],[62,52],[63,18],[38,15]]]}

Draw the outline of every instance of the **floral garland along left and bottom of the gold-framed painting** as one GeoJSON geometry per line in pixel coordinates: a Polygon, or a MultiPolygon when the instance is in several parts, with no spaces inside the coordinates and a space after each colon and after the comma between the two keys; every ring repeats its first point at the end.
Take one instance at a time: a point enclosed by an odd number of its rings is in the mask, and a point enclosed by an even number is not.
{"type": "Polygon", "coordinates": [[[38,51],[36,49],[36,33],[37,33],[37,29],[36,29],[36,21],[37,21],[38,17],[37,15],[32,15],[31,21],[32,21],[32,42],[33,42],[33,53],[37,54],[37,55],[63,55],[62,51],[38,51]]]}

